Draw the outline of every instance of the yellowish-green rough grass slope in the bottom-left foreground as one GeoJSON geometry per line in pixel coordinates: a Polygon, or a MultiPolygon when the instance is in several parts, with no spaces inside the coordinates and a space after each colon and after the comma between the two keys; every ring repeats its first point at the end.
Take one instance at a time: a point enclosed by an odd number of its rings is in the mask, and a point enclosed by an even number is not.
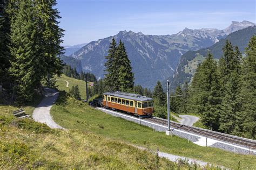
{"type": "Polygon", "coordinates": [[[170,162],[90,131],[55,130],[32,119],[18,119],[12,115],[14,109],[17,108],[0,107],[0,169],[191,169],[196,166],[184,161],[170,162]]]}

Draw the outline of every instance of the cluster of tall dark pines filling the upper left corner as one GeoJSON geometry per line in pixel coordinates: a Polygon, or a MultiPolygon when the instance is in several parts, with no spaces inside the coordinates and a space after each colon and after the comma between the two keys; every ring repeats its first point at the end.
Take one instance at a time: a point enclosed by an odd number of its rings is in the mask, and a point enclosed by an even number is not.
{"type": "Polygon", "coordinates": [[[63,31],[56,1],[6,1],[0,14],[0,96],[24,104],[60,74],[63,31]]]}

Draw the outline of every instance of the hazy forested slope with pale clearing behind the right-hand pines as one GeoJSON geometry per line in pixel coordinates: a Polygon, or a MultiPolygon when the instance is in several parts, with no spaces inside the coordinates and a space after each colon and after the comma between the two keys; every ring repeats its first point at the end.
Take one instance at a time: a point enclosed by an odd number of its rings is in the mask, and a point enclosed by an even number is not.
{"type": "Polygon", "coordinates": [[[181,56],[175,74],[173,77],[170,77],[172,87],[175,88],[180,84],[184,84],[186,81],[190,82],[191,77],[196,72],[197,66],[205,60],[208,52],[213,55],[214,59],[220,59],[223,55],[222,48],[226,40],[229,40],[234,46],[238,46],[243,53],[250,38],[255,33],[255,26],[247,27],[246,29],[231,33],[225,39],[221,39],[211,47],[186,52],[181,56]]]}

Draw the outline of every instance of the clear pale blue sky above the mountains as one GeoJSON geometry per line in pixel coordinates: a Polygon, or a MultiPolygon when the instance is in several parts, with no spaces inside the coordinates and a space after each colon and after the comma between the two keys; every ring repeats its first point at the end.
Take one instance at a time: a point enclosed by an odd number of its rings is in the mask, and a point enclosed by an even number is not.
{"type": "Polygon", "coordinates": [[[232,20],[254,22],[255,0],[57,0],[64,45],[141,31],[166,35],[200,28],[225,29],[232,20]]]}

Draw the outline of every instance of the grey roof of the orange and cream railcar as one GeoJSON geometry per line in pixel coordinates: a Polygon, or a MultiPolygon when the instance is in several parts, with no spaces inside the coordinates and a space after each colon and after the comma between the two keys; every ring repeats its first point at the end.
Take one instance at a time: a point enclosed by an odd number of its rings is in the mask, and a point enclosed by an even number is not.
{"type": "Polygon", "coordinates": [[[106,92],[103,93],[103,95],[110,95],[110,96],[115,96],[115,97],[121,97],[121,98],[126,98],[134,101],[140,101],[140,102],[145,102],[145,101],[151,101],[153,98],[138,95],[138,94],[133,94],[133,93],[125,93],[121,91],[116,91],[116,92],[106,92]]]}

